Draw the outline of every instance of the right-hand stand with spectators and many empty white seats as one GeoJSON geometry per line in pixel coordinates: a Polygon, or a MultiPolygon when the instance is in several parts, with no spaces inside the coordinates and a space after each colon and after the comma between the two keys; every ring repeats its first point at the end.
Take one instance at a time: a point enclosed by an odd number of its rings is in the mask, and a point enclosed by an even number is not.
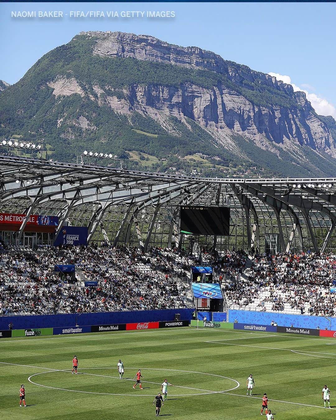
{"type": "Polygon", "coordinates": [[[247,278],[224,287],[230,309],[336,315],[336,255],[255,255],[247,278]]]}

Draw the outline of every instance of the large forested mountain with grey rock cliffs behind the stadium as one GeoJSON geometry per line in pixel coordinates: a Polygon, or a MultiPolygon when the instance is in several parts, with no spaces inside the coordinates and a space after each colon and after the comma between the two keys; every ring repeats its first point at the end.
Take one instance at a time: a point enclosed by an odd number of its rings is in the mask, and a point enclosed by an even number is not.
{"type": "Polygon", "coordinates": [[[146,35],[81,32],[0,92],[0,123],[1,136],[43,139],[59,160],[89,148],[153,170],[336,170],[335,120],[317,115],[305,93],[210,51],[146,35]]]}

